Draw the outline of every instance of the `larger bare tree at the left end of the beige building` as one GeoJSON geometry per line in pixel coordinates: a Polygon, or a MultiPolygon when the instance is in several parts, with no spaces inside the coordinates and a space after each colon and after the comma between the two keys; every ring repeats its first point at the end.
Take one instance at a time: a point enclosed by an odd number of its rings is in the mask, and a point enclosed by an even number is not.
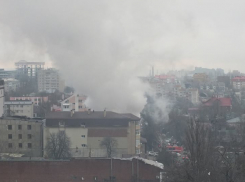
{"type": "Polygon", "coordinates": [[[70,146],[71,141],[65,131],[58,131],[50,134],[45,150],[49,158],[62,159],[71,156],[70,146]]]}

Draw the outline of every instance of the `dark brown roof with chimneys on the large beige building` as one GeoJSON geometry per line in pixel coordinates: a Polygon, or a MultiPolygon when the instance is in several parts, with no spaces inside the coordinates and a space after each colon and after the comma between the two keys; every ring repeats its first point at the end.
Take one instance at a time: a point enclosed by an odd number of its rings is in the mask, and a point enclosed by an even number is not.
{"type": "Polygon", "coordinates": [[[69,120],[126,120],[126,121],[139,121],[140,118],[133,114],[119,114],[112,111],[106,111],[106,116],[104,117],[104,111],[91,111],[88,114],[87,111],[75,112],[71,117],[71,112],[60,111],[60,112],[50,112],[46,115],[47,120],[52,119],[69,119],[69,120]]]}

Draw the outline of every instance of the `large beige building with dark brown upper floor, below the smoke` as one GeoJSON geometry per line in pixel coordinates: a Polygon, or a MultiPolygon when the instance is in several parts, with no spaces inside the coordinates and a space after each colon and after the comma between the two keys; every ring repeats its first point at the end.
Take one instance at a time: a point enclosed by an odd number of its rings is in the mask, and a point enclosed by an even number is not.
{"type": "Polygon", "coordinates": [[[46,115],[44,145],[51,133],[65,131],[75,157],[106,157],[106,149],[101,147],[106,137],[117,141],[114,156],[140,154],[139,120],[133,114],[110,111],[50,112],[46,115]]]}

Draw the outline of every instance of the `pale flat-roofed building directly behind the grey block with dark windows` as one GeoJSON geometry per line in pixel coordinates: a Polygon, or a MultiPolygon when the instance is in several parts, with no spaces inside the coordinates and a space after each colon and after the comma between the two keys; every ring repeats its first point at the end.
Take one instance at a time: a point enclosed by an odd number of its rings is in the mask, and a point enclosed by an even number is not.
{"type": "Polygon", "coordinates": [[[4,115],[33,118],[33,108],[34,105],[31,101],[7,101],[4,102],[4,115]]]}

